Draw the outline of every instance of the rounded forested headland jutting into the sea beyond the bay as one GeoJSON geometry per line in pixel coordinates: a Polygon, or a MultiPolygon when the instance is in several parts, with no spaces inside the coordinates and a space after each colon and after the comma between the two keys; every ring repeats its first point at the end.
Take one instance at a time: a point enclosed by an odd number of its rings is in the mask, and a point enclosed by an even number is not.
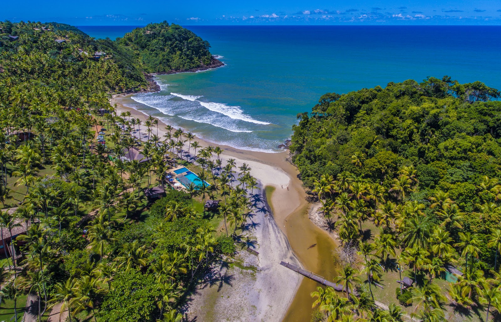
{"type": "Polygon", "coordinates": [[[200,67],[218,67],[210,45],[191,31],[167,22],[149,24],[125,34],[118,43],[130,48],[147,73],[186,71],[200,67]]]}

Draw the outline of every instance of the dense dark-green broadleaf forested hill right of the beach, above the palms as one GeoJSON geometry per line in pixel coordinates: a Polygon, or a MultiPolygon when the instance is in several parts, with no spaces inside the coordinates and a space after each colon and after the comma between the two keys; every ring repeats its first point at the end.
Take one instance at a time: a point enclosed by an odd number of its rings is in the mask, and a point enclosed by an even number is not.
{"type": "Polygon", "coordinates": [[[483,83],[448,77],[325,94],[312,113],[298,115],[293,160],[309,187],[346,171],[386,191],[399,168],[412,165],[419,184],[406,198],[444,191],[472,211],[484,176],[501,176],[501,102],[491,101],[498,97],[483,83]]]}

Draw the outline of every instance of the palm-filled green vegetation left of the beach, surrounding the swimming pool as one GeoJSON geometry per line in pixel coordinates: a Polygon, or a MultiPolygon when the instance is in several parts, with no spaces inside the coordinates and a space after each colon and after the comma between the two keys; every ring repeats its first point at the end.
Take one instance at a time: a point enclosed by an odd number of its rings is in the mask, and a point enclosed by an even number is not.
{"type": "MultiPolygon", "coordinates": [[[[180,40],[187,33],[155,26],[148,27],[161,31],[158,37],[165,31],[180,40]]],[[[31,292],[40,306],[30,311],[39,320],[57,303],[72,320],[180,320],[179,308],[197,283],[223,253],[236,250],[253,210],[257,183],[250,168],[237,169],[234,160],[222,165],[220,148],[201,149],[181,129],[167,126],[159,138],[152,117],[117,115],[111,94],[147,87],[142,66],[148,60],[135,60],[141,50],[134,45],[96,41],[64,24],[0,27],[0,201],[1,209],[16,207],[0,211],[0,228],[26,229],[10,245],[22,258],[8,254],[1,262],[9,266],[0,269],[5,319],[14,314],[11,307],[22,318],[31,292]],[[136,126],[147,139],[132,135],[136,126]],[[100,131],[106,142],[96,142],[100,131]],[[127,159],[133,147],[145,160],[127,159]],[[211,185],[175,190],[167,174],[176,164],[211,185]],[[145,190],[156,186],[166,196],[154,202],[145,190]],[[205,210],[209,198],[220,207],[205,210]]],[[[176,52],[176,68],[195,66],[191,43],[200,40],[187,35],[193,40],[176,52]]],[[[171,64],[170,56],[164,59],[171,64]]]]}

